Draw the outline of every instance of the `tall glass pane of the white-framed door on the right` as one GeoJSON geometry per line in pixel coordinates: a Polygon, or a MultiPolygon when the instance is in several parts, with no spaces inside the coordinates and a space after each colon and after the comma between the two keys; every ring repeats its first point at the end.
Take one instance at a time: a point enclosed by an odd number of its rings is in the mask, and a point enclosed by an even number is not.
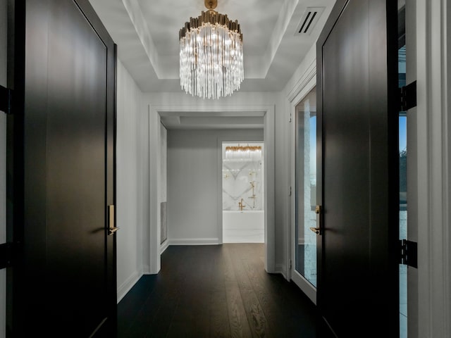
{"type": "Polygon", "coordinates": [[[295,110],[295,271],[316,287],[316,88],[295,110]]]}

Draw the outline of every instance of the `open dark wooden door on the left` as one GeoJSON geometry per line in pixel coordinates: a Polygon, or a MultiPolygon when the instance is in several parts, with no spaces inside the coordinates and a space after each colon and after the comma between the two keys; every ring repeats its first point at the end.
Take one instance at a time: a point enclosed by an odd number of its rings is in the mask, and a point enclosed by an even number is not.
{"type": "Polygon", "coordinates": [[[116,46],[89,1],[11,8],[8,331],[115,337],[116,46]]]}

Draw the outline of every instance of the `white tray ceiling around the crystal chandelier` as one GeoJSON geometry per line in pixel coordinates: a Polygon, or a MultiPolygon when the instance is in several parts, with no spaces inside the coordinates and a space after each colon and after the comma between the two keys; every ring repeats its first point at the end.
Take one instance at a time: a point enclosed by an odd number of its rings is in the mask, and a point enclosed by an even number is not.
{"type": "MultiPolygon", "coordinates": [[[[118,58],[142,92],[183,92],[178,75],[178,32],[190,17],[206,11],[204,0],[89,2],[118,45],[118,58]]],[[[333,4],[335,0],[218,0],[216,11],[241,25],[245,80],[240,92],[283,90],[319,37],[333,4]],[[321,7],[323,12],[310,34],[296,34],[309,7],[321,7]]],[[[185,125],[189,124],[187,118],[185,125]]],[[[172,125],[169,120],[174,118],[166,119],[172,125]]],[[[213,121],[197,122],[198,127],[215,125],[213,121]]],[[[228,118],[218,123],[237,127],[228,118]]],[[[195,125],[192,120],[191,127],[195,125]]],[[[246,125],[256,127],[251,120],[243,123],[246,125]]]]}

